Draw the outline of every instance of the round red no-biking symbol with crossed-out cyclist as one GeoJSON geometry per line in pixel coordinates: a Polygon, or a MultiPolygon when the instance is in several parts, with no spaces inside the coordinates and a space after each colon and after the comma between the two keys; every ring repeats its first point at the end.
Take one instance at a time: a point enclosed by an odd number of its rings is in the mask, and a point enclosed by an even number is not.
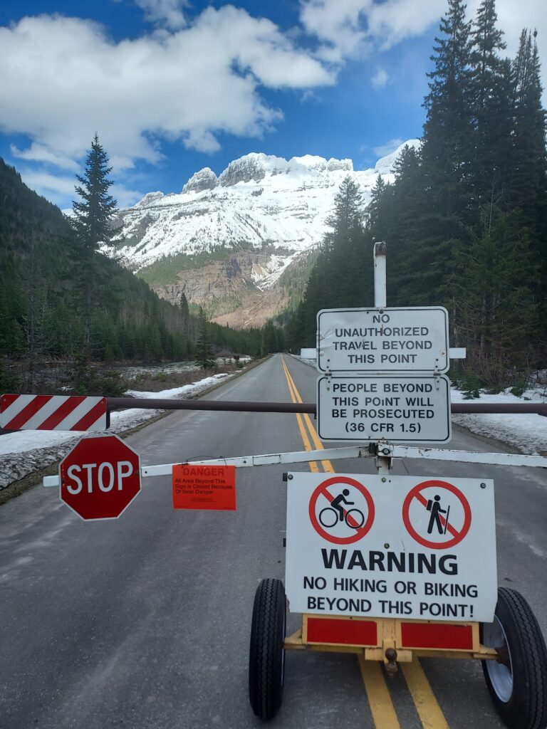
{"type": "Polygon", "coordinates": [[[374,502],[362,483],[348,476],[335,476],[320,483],[311,494],[309,518],[328,542],[348,545],[370,531],[374,502]]]}

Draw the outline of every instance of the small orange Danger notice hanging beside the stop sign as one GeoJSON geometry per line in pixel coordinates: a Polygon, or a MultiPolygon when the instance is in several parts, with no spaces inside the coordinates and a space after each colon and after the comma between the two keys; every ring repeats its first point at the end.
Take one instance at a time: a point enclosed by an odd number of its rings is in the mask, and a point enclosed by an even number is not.
{"type": "Polygon", "coordinates": [[[173,467],[174,509],[236,510],[236,467],[173,467]]]}

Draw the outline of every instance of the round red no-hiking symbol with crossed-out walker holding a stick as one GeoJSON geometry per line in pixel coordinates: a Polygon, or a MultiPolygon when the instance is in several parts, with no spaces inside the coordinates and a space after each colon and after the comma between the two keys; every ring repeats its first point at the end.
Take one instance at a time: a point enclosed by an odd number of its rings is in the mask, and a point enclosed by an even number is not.
{"type": "Polygon", "coordinates": [[[422,547],[455,547],[468,534],[471,507],[468,499],[448,481],[430,479],[417,484],[403,503],[403,523],[422,547]]]}

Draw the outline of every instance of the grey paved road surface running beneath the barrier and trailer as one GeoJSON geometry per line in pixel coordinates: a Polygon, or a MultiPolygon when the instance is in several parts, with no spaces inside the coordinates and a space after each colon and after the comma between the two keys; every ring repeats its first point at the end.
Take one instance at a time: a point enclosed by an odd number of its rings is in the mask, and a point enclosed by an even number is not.
{"type": "MultiPolygon", "coordinates": [[[[314,370],[286,360],[302,399],[314,399],[314,370]]],[[[281,356],[208,397],[290,399],[281,356]]],[[[144,464],[302,449],[294,415],[260,413],[179,411],[128,442],[144,464]]],[[[451,446],[492,449],[464,432],[451,446]]],[[[174,511],[165,477],[145,480],[118,521],[84,523],[40,486],[0,507],[0,729],[262,726],[247,699],[249,628],[257,582],[284,573],[285,469],[241,469],[236,512],[174,511]]],[[[418,461],[397,472],[425,473],[418,461]]],[[[546,475],[427,463],[427,475],[447,474],[494,477],[500,585],[521,590],[547,632],[546,475]]],[[[501,726],[478,663],[422,666],[430,729],[501,726]]],[[[421,728],[404,677],[387,690],[400,728],[421,728]]],[[[374,728],[357,659],[290,652],[275,725],[374,728]]]]}

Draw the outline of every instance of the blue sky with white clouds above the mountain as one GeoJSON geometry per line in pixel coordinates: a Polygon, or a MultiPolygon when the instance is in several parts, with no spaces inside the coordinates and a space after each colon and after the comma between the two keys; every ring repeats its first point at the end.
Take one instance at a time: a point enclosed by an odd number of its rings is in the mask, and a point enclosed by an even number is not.
{"type": "MultiPolygon", "coordinates": [[[[473,15],[478,0],[470,0],[473,15]]],[[[248,152],[373,166],[421,136],[446,0],[0,4],[0,155],[61,208],[93,134],[120,206],[248,152]]],[[[507,52],[545,0],[497,0],[507,52]]],[[[544,37],[545,36],[545,37],[544,37]]],[[[543,69],[545,71],[545,69],[543,69]]],[[[545,75],[545,74],[544,74],[545,75]]],[[[544,84],[545,85],[545,84],[544,84]]]]}

